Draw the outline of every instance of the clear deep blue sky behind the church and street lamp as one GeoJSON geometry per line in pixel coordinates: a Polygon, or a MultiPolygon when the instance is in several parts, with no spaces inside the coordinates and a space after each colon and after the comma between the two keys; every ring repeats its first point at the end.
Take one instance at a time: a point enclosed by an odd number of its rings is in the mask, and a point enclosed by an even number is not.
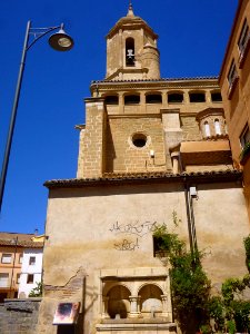
{"type": "MultiPolygon", "coordinates": [[[[0,161],[7,139],[27,21],[64,22],[74,39],[57,52],[44,37],[28,52],[0,230],[43,232],[48,179],[73,178],[83,98],[106,75],[106,35],[127,14],[129,0],[8,0],[0,3],[0,161]]],[[[159,35],[161,77],[219,75],[238,0],[133,0],[133,10],[159,35]]]]}

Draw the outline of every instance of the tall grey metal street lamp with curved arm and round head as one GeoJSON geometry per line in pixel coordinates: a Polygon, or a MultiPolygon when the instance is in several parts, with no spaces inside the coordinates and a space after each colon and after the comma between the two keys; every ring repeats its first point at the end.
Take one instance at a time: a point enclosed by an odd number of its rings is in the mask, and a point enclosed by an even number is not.
{"type": "Polygon", "coordinates": [[[12,111],[11,111],[11,119],[10,119],[10,125],[9,125],[8,138],[7,138],[4,157],[3,157],[3,163],[2,163],[2,170],[1,170],[0,212],[1,212],[1,207],[2,207],[2,198],[3,198],[3,191],[4,191],[4,185],[6,185],[6,177],[7,177],[10,149],[11,149],[11,143],[12,143],[12,137],[13,137],[17,110],[18,110],[18,102],[19,102],[19,97],[20,97],[23,70],[24,70],[24,66],[26,66],[27,51],[43,36],[46,36],[57,29],[59,29],[59,31],[57,33],[53,33],[50,36],[49,45],[51,46],[51,48],[53,48],[57,51],[70,50],[73,47],[73,39],[64,32],[63,23],[61,23],[60,26],[57,26],[57,27],[47,27],[47,28],[32,28],[31,21],[28,21],[28,23],[27,23],[21,62],[20,62],[20,68],[19,68],[18,81],[17,81],[17,87],[16,87],[14,100],[13,100],[13,106],[12,106],[12,111]],[[30,41],[31,36],[33,37],[33,40],[30,41]]]}

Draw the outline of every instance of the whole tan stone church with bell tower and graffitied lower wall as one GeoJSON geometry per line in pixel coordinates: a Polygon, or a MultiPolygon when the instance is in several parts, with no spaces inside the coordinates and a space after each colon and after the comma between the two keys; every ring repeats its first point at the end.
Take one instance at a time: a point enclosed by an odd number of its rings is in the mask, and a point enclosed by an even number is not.
{"type": "Polygon", "coordinates": [[[67,333],[174,333],[158,224],[208,250],[214,291],[244,274],[248,214],[218,78],[161,78],[157,39],[130,6],[107,36],[107,75],[92,81],[77,126],[77,178],[46,183],[38,333],[64,333],[52,325],[61,302],[81,303],[67,333]]]}

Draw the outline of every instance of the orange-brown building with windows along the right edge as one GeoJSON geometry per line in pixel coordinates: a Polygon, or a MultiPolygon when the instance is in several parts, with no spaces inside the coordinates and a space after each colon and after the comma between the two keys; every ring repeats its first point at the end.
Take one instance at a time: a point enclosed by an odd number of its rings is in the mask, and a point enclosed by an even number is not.
{"type": "Polygon", "coordinates": [[[243,169],[250,217],[250,1],[239,1],[219,84],[237,168],[243,169]]]}

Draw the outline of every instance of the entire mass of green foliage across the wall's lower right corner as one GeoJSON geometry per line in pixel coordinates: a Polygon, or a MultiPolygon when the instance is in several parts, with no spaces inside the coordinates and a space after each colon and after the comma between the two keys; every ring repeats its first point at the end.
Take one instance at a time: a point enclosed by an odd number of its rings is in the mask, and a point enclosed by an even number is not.
{"type": "MultiPolygon", "coordinates": [[[[177,223],[176,215],[173,218],[177,223]]],[[[156,228],[154,237],[160,240],[161,250],[166,250],[162,254],[168,256],[171,266],[173,312],[182,333],[249,333],[250,302],[246,301],[243,293],[250,287],[250,274],[226,279],[221,294],[212,296],[210,281],[201,265],[204,254],[187,250],[186,243],[178,234],[170,233],[166,225],[156,228]]],[[[243,243],[246,263],[250,268],[250,236],[243,243]]]]}

